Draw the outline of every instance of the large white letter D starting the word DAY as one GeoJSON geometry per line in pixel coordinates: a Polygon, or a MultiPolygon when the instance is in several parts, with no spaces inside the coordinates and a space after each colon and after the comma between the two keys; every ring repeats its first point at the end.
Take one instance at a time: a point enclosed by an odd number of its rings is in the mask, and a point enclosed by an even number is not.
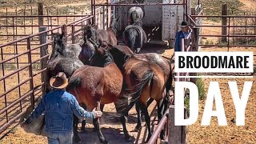
{"type": "Polygon", "coordinates": [[[175,82],[174,125],[188,126],[198,119],[198,87],[192,82],[175,82]],[[184,89],[190,90],[190,118],[184,118],[184,89]]]}

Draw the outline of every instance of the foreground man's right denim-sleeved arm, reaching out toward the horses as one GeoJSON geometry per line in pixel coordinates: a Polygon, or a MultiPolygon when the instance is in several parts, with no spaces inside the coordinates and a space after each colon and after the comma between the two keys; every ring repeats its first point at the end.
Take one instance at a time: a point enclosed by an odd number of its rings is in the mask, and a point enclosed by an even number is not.
{"type": "Polygon", "coordinates": [[[76,98],[74,98],[74,96],[71,101],[71,109],[78,118],[96,118],[94,112],[86,111],[81,106],[79,106],[78,101],[76,98]]]}

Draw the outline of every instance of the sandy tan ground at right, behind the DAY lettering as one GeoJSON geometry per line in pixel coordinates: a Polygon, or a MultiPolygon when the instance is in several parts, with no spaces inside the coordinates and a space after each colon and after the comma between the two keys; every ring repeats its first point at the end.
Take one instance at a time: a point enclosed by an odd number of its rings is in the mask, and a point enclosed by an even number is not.
{"type": "MultiPolygon", "coordinates": [[[[250,10],[255,2],[252,0],[240,0],[245,6],[242,6],[243,10],[250,10]]],[[[217,24],[216,22],[204,21],[204,24],[217,24]]],[[[208,28],[204,29],[203,34],[221,34],[221,28],[208,28]]],[[[217,38],[207,38],[204,41],[216,42],[217,38]]],[[[228,51],[227,48],[222,47],[209,47],[202,48],[201,51],[228,51]]],[[[256,54],[255,47],[230,47],[230,51],[253,51],[256,54]]],[[[254,58],[256,63],[256,58],[254,58]]],[[[205,107],[206,98],[199,102],[199,116],[198,121],[188,126],[187,142],[188,143],[255,143],[256,142],[256,74],[254,78],[203,78],[205,83],[205,90],[207,94],[208,86],[210,82],[219,82],[222,101],[225,109],[226,120],[228,126],[218,126],[218,119],[212,117],[210,126],[201,126],[202,114],[205,107]],[[230,94],[228,82],[238,82],[239,95],[242,94],[242,88],[244,82],[254,82],[250,91],[250,97],[246,105],[246,124],[245,126],[236,126],[235,119],[236,113],[234,108],[234,102],[230,94]]],[[[215,106],[214,106],[215,107],[215,106]]],[[[214,108],[215,109],[215,108],[214,108]]]]}

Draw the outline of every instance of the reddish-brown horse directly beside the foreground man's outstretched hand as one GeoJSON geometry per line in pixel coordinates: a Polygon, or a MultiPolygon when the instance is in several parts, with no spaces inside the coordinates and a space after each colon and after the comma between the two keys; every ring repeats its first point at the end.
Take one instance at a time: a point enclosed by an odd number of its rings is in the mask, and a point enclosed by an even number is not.
{"type": "MultiPolygon", "coordinates": [[[[74,94],[79,104],[84,103],[88,110],[101,109],[101,104],[115,102],[122,92],[122,73],[113,61],[112,55],[105,49],[96,48],[93,56],[99,59],[98,66],[81,66],[70,78],[67,90],[74,94]],[[98,55],[103,55],[98,57],[98,55]]],[[[74,118],[74,141],[79,142],[75,123],[78,118],[74,118]]],[[[108,143],[99,128],[99,118],[93,119],[94,129],[98,138],[103,143],[108,143]]]]}

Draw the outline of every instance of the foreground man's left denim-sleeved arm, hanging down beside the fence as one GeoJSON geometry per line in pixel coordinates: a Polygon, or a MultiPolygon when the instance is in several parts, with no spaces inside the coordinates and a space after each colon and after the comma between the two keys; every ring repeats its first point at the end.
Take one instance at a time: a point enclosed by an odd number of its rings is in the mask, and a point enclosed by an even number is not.
{"type": "Polygon", "coordinates": [[[46,106],[46,96],[44,96],[39,102],[38,106],[32,111],[29,118],[26,119],[26,124],[30,124],[34,118],[38,118],[44,111],[46,106]]]}

